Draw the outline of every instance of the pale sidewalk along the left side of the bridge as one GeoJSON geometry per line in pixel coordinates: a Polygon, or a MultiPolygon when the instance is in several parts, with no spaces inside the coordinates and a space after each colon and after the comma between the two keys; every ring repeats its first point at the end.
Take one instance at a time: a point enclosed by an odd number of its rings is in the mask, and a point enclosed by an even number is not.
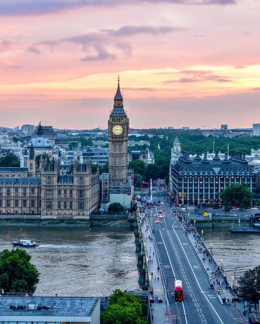
{"type": "MultiPolygon", "coordinates": [[[[141,215],[143,218],[145,214],[141,214],[141,215]]],[[[153,237],[152,228],[150,228],[150,226],[149,226],[148,230],[145,232],[147,225],[148,225],[148,223],[144,222],[142,229],[144,231],[143,236],[144,236],[144,241],[146,243],[146,246],[145,246],[146,254],[147,254],[147,257],[149,258],[149,260],[151,260],[151,262],[149,262],[148,275],[151,276],[151,286],[153,288],[154,298],[155,298],[155,296],[158,296],[158,298],[162,300],[162,303],[158,304],[154,300],[154,302],[152,302],[150,304],[150,314],[151,314],[150,318],[153,318],[151,323],[156,323],[156,324],[170,323],[170,319],[168,318],[168,320],[167,320],[166,316],[165,316],[166,300],[165,300],[165,293],[164,293],[163,285],[162,285],[161,270],[159,269],[159,272],[157,270],[157,268],[159,266],[158,260],[157,260],[157,253],[155,250],[153,240],[149,240],[149,238],[148,238],[149,235],[150,235],[150,237],[153,237]],[[154,252],[154,256],[153,256],[153,252],[154,252]],[[151,275],[151,274],[153,274],[153,275],[151,275]],[[157,278],[158,276],[159,276],[159,280],[157,278]]],[[[159,268],[160,268],[160,266],[159,266],[159,268]]],[[[149,295],[149,297],[151,297],[151,295],[149,295]]]]}

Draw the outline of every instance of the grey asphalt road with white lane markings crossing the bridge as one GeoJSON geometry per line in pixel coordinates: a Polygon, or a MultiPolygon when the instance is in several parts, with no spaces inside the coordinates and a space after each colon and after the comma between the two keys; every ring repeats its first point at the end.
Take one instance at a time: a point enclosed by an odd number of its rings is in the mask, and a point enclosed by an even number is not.
{"type": "Polygon", "coordinates": [[[164,202],[164,212],[163,218],[159,218],[160,223],[155,223],[156,216],[159,217],[160,207],[154,207],[152,211],[146,209],[146,213],[149,226],[154,230],[153,242],[164,291],[166,286],[168,288],[168,305],[165,305],[165,312],[170,313],[171,322],[246,323],[237,309],[221,305],[217,294],[209,288],[209,276],[196,250],[175,215],[170,213],[167,201],[165,199],[161,201],[164,202]],[[182,280],[184,293],[182,302],[175,301],[175,278],[182,280]]]}

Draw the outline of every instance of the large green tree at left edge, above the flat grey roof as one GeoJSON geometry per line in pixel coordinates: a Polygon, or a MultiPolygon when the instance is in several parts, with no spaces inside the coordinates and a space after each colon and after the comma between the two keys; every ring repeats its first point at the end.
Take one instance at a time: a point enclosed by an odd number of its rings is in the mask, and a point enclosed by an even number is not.
{"type": "Polygon", "coordinates": [[[24,249],[0,253],[0,290],[5,293],[34,293],[40,273],[30,263],[32,256],[24,249]]]}

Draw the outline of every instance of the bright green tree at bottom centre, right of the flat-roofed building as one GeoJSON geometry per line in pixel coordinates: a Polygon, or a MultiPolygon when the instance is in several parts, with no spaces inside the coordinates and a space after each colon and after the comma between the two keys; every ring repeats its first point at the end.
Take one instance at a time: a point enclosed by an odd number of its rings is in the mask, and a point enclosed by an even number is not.
{"type": "Polygon", "coordinates": [[[143,318],[143,303],[138,296],[120,289],[113,293],[106,311],[100,314],[101,324],[148,324],[143,318]]]}

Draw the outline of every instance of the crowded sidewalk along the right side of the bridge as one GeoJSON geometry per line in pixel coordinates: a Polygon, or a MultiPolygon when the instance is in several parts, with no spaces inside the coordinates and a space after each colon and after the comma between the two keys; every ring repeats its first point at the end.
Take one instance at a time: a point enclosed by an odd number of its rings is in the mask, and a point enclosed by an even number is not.
{"type": "MultiPolygon", "coordinates": [[[[182,214],[183,215],[183,214],[182,214]]],[[[177,219],[177,222],[178,222],[178,216],[175,216],[176,219],[177,219]]],[[[186,220],[185,216],[183,215],[183,218],[186,220]]],[[[184,223],[182,222],[182,227],[184,228],[184,223]]],[[[193,228],[193,226],[191,224],[189,224],[190,228],[193,228]]],[[[197,255],[199,257],[199,259],[201,260],[201,264],[202,266],[204,267],[205,271],[207,272],[208,276],[209,276],[209,283],[210,282],[214,282],[214,279],[215,279],[215,284],[214,284],[214,293],[218,296],[219,298],[219,301],[221,304],[223,304],[222,302],[222,298],[226,297],[226,300],[227,298],[229,299],[229,302],[230,302],[230,306],[235,308],[242,316],[243,320],[244,320],[244,323],[249,323],[249,320],[248,320],[248,311],[247,311],[247,314],[245,316],[243,316],[243,311],[244,311],[244,300],[242,298],[239,298],[239,302],[236,301],[236,302],[233,302],[232,303],[232,299],[234,298],[234,295],[232,295],[228,289],[226,289],[226,284],[225,284],[225,274],[223,273],[223,271],[221,270],[221,272],[219,273],[219,276],[218,275],[212,275],[212,279],[210,278],[210,275],[211,275],[211,272],[215,272],[215,269],[216,267],[218,267],[218,264],[216,262],[216,260],[214,259],[214,256],[211,254],[210,250],[208,249],[208,247],[206,246],[206,244],[202,241],[201,237],[199,236],[199,234],[197,233],[196,229],[195,229],[195,233],[198,235],[199,237],[199,240],[201,241],[201,247],[202,247],[202,251],[199,252],[198,251],[198,245],[197,247],[195,246],[196,244],[196,239],[195,237],[193,237],[193,233],[190,232],[188,233],[188,238],[190,240],[190,243],[193,245],[195,251],[197,252],[197,255]],[[206,250],[208,250],[209,252],[209,256],[207,257],[206,256],[206,253],[203,254],[203,250],[204,248],[206,250]],[[206,260],[202,260],[202,259],[206,259],[206,260]],[[212,259],[212,262],[209,262],[209,259],[212,259]],[[222,285],[217,285],[216,284],[216,280],[218,281],[221,281],[221,280],[224,280],[223,284],[222,285]],[[220,294],[217,293],[216,289],[220,288],[220,294]],[[223,288],[223,292],[221,292],[221,288],[223,288]],[[235,306],[236,304],[236,306],[235,306]]],[[[229,283],[227,282],[227,286],[229,285],[229,283]]],[[[232,286],[232,285],[231,285],[232,286]]],[[[227,304],[223,304],[223,307],[227,307],[227,304]]],[[[249,303],[247,302],[247,305],[246,305],[247,309],[249,307],[249,303]]],[[[253,313],[254,307],[252,307],[251,309],[251,313],[253,313]]]]}

